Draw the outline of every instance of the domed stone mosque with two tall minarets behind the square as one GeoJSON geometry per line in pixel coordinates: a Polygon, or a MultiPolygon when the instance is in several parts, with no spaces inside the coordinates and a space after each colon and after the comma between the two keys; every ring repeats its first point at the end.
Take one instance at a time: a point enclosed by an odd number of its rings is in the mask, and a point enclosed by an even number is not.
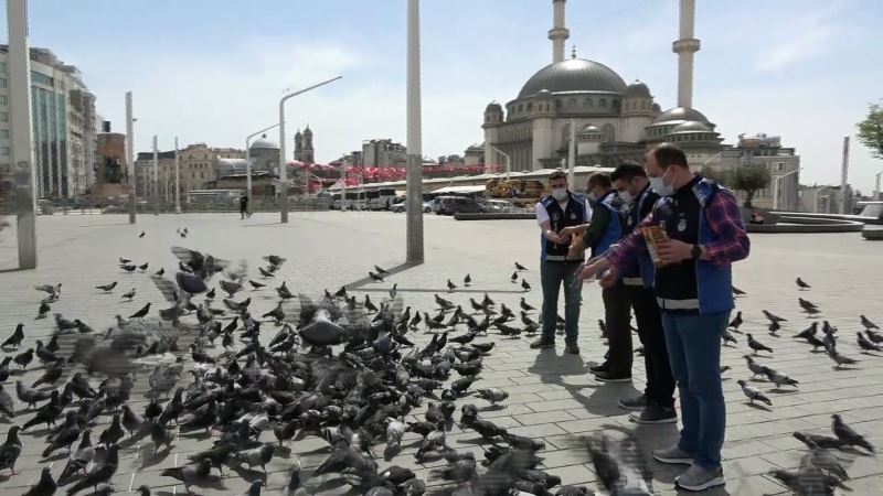
{"type": "Polygon", "coordinates": [[[504,164],[506,154],[512,171],[558,168],[566,163],[572,141],[576,165],[640,161],[648,145],[663,141],[679,144],[690,164],[700,165],[726,148],[715,125],[692,106],[693,54],[700,48],[693,37],[695,0],[680,0],[680,37],[672,46],[678,54],[678,106],[668,110],[645,83],[626,84],[610,67],[578,58],[575,51],[565,60],[565,3],[552,2],[552,63],[506,106],[491,103],[485,109],[486,163],[504,164]]]}

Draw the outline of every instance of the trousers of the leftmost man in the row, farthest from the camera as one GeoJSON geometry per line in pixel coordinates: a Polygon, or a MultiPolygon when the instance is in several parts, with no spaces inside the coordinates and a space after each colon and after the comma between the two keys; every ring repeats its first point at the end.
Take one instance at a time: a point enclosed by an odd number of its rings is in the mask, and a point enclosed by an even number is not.
{"type": "Polygon", "coordinates": [[[564,339],[576,343],[579,335],[579,305],[583,287],[576,279],[582,261],[543,261],[540,265],[540,283],[543,288],[543,341],[555,341],[555,317],[558,314],[558,294],[564,285],[564,339]]]}

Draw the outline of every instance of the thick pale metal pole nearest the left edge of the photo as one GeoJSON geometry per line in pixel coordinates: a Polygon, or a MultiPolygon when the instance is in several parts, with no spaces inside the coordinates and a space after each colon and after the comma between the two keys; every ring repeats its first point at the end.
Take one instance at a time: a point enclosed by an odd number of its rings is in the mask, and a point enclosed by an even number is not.
{"type": "Polygon", "coordinates": [[[36,203],[31,140],[31,57],[28,48],[28,0],[7,1],[9,33],[9,130],[15,177],[19,268],[36,268],[36,203]]]}

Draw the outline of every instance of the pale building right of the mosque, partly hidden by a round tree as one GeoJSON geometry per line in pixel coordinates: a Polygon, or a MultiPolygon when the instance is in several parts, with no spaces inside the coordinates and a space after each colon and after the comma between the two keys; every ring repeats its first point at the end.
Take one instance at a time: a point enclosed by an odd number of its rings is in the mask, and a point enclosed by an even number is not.
{"type": "MultiPolygon", "coordinates": [[[[752,205],[788,212],[800,208],[800,155],[794,148],[783,147],[778,136],[740,134],[736,145],[723,150],[720,162],[712,166],[732,173],[740,166],[757,164],[769,171],[770,180],[767,187],[755,193],[752,205]]],[[[744,193],[736,192],[736,196],[742,200],[744,193]]]]}

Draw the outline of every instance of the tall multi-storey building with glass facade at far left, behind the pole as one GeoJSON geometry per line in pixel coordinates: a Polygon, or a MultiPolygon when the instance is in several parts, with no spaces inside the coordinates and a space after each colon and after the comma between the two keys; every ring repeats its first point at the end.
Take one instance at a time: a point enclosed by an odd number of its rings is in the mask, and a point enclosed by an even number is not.
{"type": "MultiPolygon", "coordinates": [[[[11,171],[8,45],[0,45],[0,175],[11,171]]],[[[79,71],[46,48],[31,48],[31,120],[35,194],[74,198],[95,181],[95,95],[79,71]]]]}

